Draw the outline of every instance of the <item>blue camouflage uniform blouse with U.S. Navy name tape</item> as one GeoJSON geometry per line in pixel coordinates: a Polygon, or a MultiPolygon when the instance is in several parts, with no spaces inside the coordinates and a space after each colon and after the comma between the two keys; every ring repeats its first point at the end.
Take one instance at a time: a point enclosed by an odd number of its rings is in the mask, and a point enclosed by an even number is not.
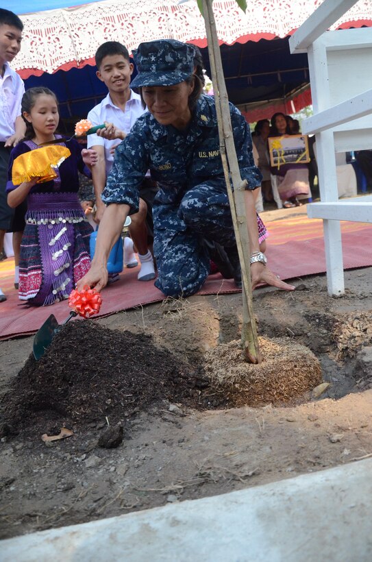
{"type": "MultiPolygon", "coordinates": [[[[249,125],[231,103],[230,114],[240,174],[247,180],[247,188],[255,189],[262,176],[253,162],[249,125]]],[[[102,200],[106,204],[125,203],[130,214],[137,212],[138,188],[148,169],[158,182],[156,200],[162,204],[177,204],[188,189],[208,180],[224,183],[216,119],[210,96],[199,98],[186,132],[160,125],[149,112],[143,114],[116,148],[102,200]]]]}

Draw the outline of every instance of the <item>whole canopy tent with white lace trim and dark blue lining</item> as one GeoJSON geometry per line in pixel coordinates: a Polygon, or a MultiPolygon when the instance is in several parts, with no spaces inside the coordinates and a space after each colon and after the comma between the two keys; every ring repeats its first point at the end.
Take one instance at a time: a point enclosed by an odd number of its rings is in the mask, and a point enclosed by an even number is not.
{"type": "MultiPolygon", "coordinates": [[[[248,1],[244,14],[235,0],[214,0],[227,92],[249,120],[267,117],[277,108],[293,112],[310,102],[307,56],[290,55],[288,35],[322,1],[248,1]]],[[[5,8],[14,10],[7,2],[5,8]]],[[[178,0],[71,3],[73,8],[35,12],[46,1],[23,0],[18,10],[25,24],[23,47],[13,64],[27,87],[44,84],[55,91],[64,117],[86,116],[106,95],[105,86],[95,77],[95,67],[90,66],[97,47],[106,40],[123,42],[129,52],[141,41],[156,38],[193,42],[202,48],[209,72],[206,32],[195,0],[180,5],[178,0]],[[31,8],[33,13],[25,14],[31,8]]],[[[69,6],[69,1],[64,5],[69,6]]],[[[370,0],[360,0],[333,27],[362,25],[372,25],[370,0]]]]}

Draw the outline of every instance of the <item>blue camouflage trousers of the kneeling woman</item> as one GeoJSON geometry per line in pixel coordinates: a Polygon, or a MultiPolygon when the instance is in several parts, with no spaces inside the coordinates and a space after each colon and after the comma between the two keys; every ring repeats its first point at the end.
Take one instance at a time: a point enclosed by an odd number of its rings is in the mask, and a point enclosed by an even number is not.
{"type": "Polygon", "coordinates": [[[210,271],[202,239],[223,246],[235,243],[230,204],[224,180],[199,184],[177,205],[153,206],[153,253],[158,265],[155,285],[166,296],[197,293],[210,271]]]}

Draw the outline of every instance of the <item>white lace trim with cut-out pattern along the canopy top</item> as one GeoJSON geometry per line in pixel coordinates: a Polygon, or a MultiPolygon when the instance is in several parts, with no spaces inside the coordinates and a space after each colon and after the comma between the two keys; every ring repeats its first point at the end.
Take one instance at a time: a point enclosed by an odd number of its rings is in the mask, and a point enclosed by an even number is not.
{"type": "MultiPolygon", "coordinates": [[[[206,38],[196,0],[107,0],[93,4],[48,10],[22,16],[22,49],[14,63],[16,71],[38,69],[53,73],[65,64],[84,66],[101,43],[116,40],[129,51],[142,41],[176,38],[200,41],[206,38]]],[[[239,38],[285,37],[297,29],[323,0],[254,0],[246,14],[236,0],[214,0],[219,39],[232,45],[239,38]]],[[[334,25],[368,20],[372,25],[371,0],[359,0],[334,25]]],[[[21,75],[23,73],[21,72],[21,75]]]]}

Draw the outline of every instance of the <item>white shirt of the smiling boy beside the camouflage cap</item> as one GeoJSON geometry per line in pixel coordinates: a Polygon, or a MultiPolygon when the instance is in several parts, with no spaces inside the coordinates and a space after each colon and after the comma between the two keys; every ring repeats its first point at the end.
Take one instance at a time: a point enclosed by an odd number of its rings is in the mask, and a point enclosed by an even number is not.
{"type": "MultiPolygon", "coordinates": [[[[145,111],[147,110],[142,108],[140,95],[130,90],[130,97],[127,103],[125,103],[124,111],[114,106],[110,94],[108,94],[101,103],[90,110],[88,113],[88,121],[90,121],[93,126],[101,125],[101,123],[105,121],[114,123],[116,127],[125,133],[129,133],[138,117],[145,111]]],[[[120,143],[120,140],[117,138],[116,140],[107,140],[106,138],[97,136],[97,134],[90,134],[87,137],[88,148],[97,145],[105,147],[106,175],[110,172],[112,162],[114,161],[114,155],[110,153],[110,148],[118,143],[120,143]]]]}

